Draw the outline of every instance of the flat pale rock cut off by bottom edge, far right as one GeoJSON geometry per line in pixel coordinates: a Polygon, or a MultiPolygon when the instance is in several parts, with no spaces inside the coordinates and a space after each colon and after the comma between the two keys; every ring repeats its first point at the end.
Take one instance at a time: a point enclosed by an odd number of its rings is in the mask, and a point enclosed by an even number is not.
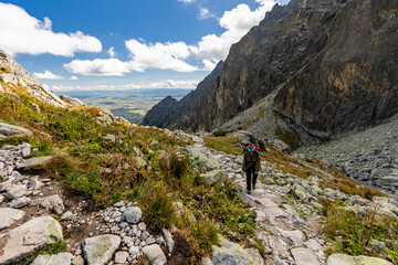
{"type": "Polygon", "coordinates": [[[333,254],[327,258],[326,265],[392,265],[392,263],[379,257],[349,256],[333,254]]]}

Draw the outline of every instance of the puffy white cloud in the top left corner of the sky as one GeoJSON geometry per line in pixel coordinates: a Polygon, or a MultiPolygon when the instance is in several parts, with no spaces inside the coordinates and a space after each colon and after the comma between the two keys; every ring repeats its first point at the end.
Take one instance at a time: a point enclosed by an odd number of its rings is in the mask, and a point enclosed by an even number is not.
{"type": "Polygon", "coordinates": [[[24,9],[0,2],[0,49],[10,55],[18,53],[73,56],[75,52],[101,52],[102,43],[80,31],[52,31],[52,21],[31,17],[24,9]]]}

